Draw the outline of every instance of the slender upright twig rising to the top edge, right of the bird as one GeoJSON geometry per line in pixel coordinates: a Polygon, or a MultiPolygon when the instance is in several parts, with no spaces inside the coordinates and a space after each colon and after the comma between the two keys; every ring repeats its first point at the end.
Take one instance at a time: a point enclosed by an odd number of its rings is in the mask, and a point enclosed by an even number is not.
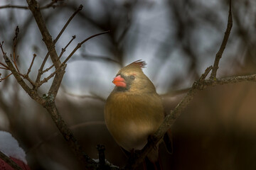
{"type": "Polygon", "coordinates": [[[210,79],[216,79],[218,64],[219,64],[220,58],[222,57],[223,52],[225,50],[225,46],[227,45],[228,38],[229,38],[232,26],[233,26],[233,19],[232,19],[231,0],[230,0],[229,11],[228,11],[228,26],[225,30],[225,35],[224,35],[224,38],[223,38],[223,42],[220,45],[220,50],[218,50],[218,52],[215,56],[215,61],[214,61],[214,64],[213,64],[213,70],[210,74],[210,79]]]}

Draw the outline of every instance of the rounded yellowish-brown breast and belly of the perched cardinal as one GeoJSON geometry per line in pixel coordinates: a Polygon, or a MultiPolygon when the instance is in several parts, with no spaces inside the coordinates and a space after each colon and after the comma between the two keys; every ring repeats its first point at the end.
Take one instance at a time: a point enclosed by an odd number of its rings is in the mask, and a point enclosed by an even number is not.
{"type": "Polygon", "coordinates": [[[105,105],[105,123],[114,140],[128,151],[142,149],[164,118],[159,98],[111,94],[105,105]]]}

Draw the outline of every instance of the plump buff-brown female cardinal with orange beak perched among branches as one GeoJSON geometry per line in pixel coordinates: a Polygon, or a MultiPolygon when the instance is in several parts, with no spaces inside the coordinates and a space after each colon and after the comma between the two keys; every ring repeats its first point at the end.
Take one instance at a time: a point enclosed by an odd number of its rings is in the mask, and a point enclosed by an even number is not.
{"type": "MultiPolygon", "coordinates": [[[[164,120],[164,108],[156,88],[142,72],[146,62],[138,60],[119,70],[114,90],[105,105],[105,123],[114,140],[128,152],[142,149],[164,120]]],[[[158,146],[147,157],[158,159],[158,146]]]]}

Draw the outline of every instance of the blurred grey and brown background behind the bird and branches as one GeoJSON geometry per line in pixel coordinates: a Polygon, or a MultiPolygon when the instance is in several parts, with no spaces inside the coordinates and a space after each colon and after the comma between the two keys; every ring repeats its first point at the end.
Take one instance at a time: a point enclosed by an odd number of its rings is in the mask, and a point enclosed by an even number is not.
{"type": "MultiPolygon", "coordinates": [[[[51,1],[39,1],[45,6],[51,1]]],[[[53,39],[68,18],[83,8],[55,47],[63,55],[85,38],[111,32],[86,42],[68,62],[56,104],[85,152],[97,159],[97,144],[105,145],[106,159],[124,166],[127,158],[104,123],[105,100],[118,70],[135,60],[146,61],[144,73],[153,81],[169,113],[193,81],[213,64],[228,21],[223,0],[63,0],[42,9],[53,39]]],[[[0,1],[0,41],[7,55],[19,26],[18,68],[31,70],[35,80],[47,50],[26,1],[0,1]]],[[[256,1],[233,1],[233,28],[220,60],[218,78],[256,72],[256,1]]],[[[2,55],[0,61],[4,62],[2,55]]],[[[50,60],[46,63],[49,67],[50,60]]],[[[50,72],[53,72],[51,70],[50,72]]],[[[44,77],[50,74],[47,72],[44,77]]],[[[8,75],[1,69],[1,77],[8,75]]],[[[46,94],[51,81],[41,86],[46,94]]],[[[174,153],[160,146],[164,169],[256,169],[256,84],[215,86],[196,94],[172,127],[174,153]]],[[[12,133],[26,150],[31,169],[82,169],[50,115],[33,101],[13,76],[0,83],[0,130],[12,133]]]]}

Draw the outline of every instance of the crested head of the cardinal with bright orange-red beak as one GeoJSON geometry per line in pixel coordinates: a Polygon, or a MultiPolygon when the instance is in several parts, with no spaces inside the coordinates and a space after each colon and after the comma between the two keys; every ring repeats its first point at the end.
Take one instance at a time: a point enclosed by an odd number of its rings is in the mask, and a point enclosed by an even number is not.
{"type": "Polygon", "coordinates": [[[154,93],[154,84],[142,72],[146,62],[137,60],[119,70],[112,81],[115,85],[114,91],[154,93]]]}

